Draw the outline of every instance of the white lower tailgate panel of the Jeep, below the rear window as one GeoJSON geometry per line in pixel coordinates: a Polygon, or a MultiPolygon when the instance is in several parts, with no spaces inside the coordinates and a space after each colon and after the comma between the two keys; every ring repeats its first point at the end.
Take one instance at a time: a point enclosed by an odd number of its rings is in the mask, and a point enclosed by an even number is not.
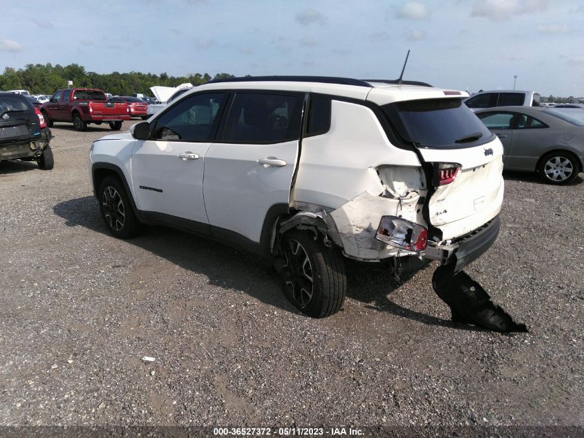
{"type": "Polygon", "coordinates": [[[466,149],[420,149],[420,153],[434,165],[460,165],[454,181],[439,185],[428,200],[430,221],[442,230],[443,239],[467,234],[498,215],[505,187],[498,138],[466,149]]]}

